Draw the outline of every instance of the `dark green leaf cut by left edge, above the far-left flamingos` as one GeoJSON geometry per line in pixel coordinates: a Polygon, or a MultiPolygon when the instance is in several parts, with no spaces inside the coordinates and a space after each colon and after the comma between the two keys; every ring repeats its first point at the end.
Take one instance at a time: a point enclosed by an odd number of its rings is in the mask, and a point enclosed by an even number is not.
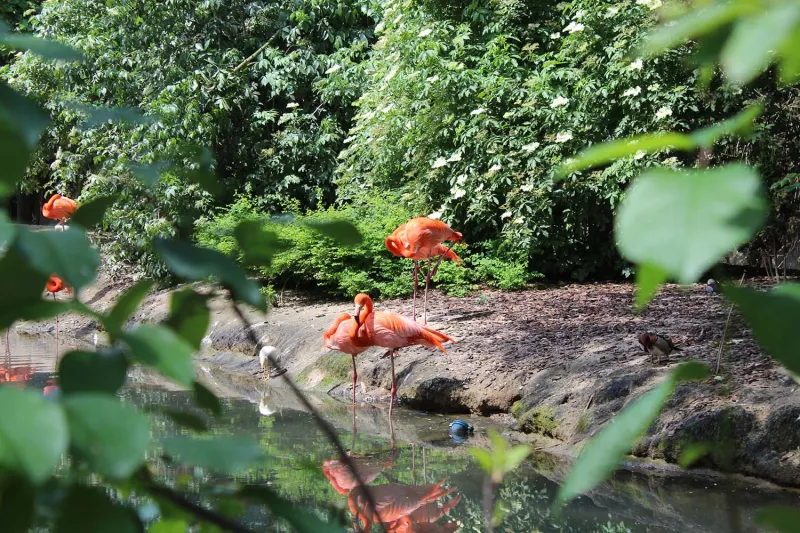
{"type": "Polygon", "coordinates": [[[0,196],[13,191],[22,179],[28,157],[49,124],[44,111],[0,81],[0,196]]]}

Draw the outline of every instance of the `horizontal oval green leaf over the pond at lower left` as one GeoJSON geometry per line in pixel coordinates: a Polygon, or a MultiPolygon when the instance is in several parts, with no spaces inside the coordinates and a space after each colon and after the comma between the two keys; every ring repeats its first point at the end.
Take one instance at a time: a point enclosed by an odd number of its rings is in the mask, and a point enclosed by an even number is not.
{"type": "Polygon", "coordinates": [[[223,473],[239,473],[264,458],[258,443],[240,437],[165,439],[164,453],[183,464],[223,473]]]}

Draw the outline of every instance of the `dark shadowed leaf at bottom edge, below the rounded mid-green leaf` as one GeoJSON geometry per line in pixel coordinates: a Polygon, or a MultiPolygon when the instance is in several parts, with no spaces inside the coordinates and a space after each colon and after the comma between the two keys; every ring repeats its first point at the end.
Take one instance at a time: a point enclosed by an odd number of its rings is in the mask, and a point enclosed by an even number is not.
{"type": "Polygon", "coordinates": [[[142,533],[133,509],[109,498],[102,487],[70,487],[59,506],[54,533],[142,533]]]}

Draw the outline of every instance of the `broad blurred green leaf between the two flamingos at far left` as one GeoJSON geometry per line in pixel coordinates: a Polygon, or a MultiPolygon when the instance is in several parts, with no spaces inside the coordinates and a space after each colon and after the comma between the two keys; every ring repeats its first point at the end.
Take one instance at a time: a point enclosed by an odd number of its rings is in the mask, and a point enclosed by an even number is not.
{"type": "Polygon", "coordinates": [[[79,228],[64,232],[20,228],[17,246],[31,267],[47,276],[56,274],[75,290],[97,276],[100,256],[79,228]]]}

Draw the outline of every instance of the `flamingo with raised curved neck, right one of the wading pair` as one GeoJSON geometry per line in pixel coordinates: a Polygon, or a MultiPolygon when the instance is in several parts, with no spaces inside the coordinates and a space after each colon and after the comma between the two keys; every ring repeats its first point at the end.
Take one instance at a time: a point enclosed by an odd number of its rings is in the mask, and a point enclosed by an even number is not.
{"type": "Polygon", "coordinates": [[[417,324],[403,315],[389,311],[373,311],[372,298],[364,293],[355,297],[355,320],[358,329],[351,332],[350,341],[356,346],[380,346],[389,348],[389,360],[392,365],[392,391],[389,402],[389,419],[392,416],[392,406],[397,397],[397,379],[394,374],[394,358],[399,348],[406,346],[426,346],[438,348],[447,353],[443,342],[456,342],[452,337],[434,329],[417,324]]]}

